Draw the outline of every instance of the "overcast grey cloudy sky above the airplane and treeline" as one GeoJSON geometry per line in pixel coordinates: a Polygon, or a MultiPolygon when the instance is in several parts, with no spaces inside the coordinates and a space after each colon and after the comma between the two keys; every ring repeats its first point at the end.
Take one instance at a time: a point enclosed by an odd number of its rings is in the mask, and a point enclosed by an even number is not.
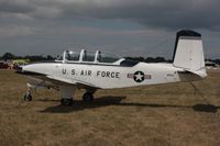
{"type": "Polygon", "coordinates": [[[220,58],[219,0],[0,0],[0,55],[100,49],[172,58],[178,30],[201,33],[220,58]]]}

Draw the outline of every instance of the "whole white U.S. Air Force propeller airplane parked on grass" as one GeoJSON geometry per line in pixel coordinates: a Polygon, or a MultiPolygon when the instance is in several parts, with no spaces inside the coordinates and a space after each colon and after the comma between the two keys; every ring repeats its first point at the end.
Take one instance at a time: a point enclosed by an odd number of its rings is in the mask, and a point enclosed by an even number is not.
{"type": "Polygon", "coordinates": [[[100,50],[65,50],[56,60],[21,66],[19,74],[29,79],[31,89],[44,87],[59,91],[63,105],[73,105],[77,89],[86,89],[84,101],[92,101],[97,89],[195,81],[207,77],[201,35],[190,30],[177,32],[172,64],[146,64],[127,60],[100,50]]]}

